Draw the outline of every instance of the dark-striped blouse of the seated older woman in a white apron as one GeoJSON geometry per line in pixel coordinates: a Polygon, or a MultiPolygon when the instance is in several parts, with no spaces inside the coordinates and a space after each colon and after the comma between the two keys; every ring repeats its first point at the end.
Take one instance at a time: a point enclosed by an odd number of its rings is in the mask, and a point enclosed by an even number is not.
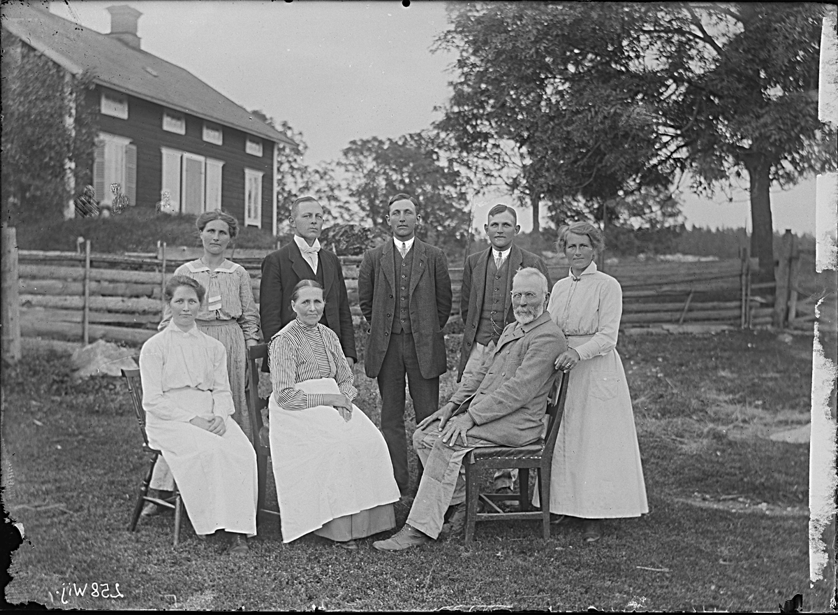
{"type": "Polygon", "coordinates": [[[308,395],[294,388],[296,383],[304,380],[334,378],[340,392],[349,399],[355,399],[358,394],[353,385],[352,370],[340,348],[340,340],[328,326],[318,323],[308,327],[298,320],[291,321],[273,336],[269,352],[272,395],[276,396],[281,408],[303,410],[324,405],[322,394],[308,395]],[[319,332],[319,339],[316,331],[319,332]]]}

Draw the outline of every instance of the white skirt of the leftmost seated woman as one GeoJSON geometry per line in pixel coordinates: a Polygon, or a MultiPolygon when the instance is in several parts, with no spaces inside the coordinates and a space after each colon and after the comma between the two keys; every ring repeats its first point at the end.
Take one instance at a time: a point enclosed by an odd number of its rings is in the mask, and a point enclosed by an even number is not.
{"type": "MultiPolygon", "coordinates": [[[[166,393],[173,404],[194,409],[195,416],[211,419],[212,393],[178,388],[166,393]]],[[[226,529],[256,534],[256,451],[241,427],[227,417],[224,435],[215,435],[191,423],[159,420],[148,415],[148,443],[163,451],[184,500],[195,534],[226,529]]]]}

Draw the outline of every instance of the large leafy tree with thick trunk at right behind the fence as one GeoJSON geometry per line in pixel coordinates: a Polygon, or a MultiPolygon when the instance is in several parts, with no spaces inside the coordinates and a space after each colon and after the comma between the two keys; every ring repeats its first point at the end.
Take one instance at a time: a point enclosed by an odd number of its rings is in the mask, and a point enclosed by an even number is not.
{"type": "Polygon", "coordinates": [[[439,44],[458,52],[458,79],[439,128],[483,164],[524,154],[515,177],[535,207],[605,211],[679,171],[706,191],[747,173],[753,252],[771,275],[770,185],[835,159],[817,118],[822,15],[815,4],[453,5],[439,44]]]}

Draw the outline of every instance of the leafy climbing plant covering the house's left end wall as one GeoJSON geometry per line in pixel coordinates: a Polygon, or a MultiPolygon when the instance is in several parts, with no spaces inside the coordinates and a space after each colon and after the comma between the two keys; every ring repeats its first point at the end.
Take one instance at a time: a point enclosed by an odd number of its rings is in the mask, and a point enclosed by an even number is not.
{"type": "Polygon", "coordinates": [[[91,183],[91,87],[3,29],[3,222],[59,217],[91,183]]]}

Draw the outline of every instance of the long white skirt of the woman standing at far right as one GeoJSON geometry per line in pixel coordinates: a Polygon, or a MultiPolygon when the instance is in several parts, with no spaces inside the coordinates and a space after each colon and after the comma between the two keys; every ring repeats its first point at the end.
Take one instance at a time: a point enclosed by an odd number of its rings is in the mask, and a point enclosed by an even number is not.
{"type": "Polygon", "coordinates": [[[570,378],[553,451],[550,512],[583,519],[648,513],[629,384],[617,351],[578,362],[570,378]]]}

